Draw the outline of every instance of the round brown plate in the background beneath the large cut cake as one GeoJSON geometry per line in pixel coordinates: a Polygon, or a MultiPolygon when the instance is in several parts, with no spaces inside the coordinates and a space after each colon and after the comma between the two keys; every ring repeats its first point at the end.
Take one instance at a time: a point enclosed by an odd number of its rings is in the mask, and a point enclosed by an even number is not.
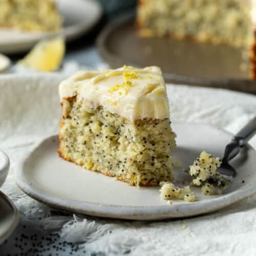
{"type": "Polygon", "coordinates": [[[172,38],[142,38],[134,15],[106,26],[97,40],[98,49],[112,68],[159,66],[167,82],[226,88],[256,94],[249,79],[242,50],[212,44],[196,44],[172,38]]]}

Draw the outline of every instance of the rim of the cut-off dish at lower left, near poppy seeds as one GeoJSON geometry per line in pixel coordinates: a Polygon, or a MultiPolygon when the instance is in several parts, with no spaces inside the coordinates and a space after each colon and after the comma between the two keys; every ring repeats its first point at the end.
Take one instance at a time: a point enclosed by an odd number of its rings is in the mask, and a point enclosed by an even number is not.
{"type": "Polygon", "coordinates": [[[4,232],[4,233],[0,233],[0,245],[4,243],[4,241],[6,239],[9,238],[9,236],[11,236],[11,234],[13,233],[13,231],[16,229],[18,223],[19,223],[19,212],[16,208],[16,206],[14,205],[14,203],[0,190],[0,197],[2,197],[4,199],[4,201],[6,202],[6,204],[9,204],[9,206],[13,209],[13,214],[12,214],[12,222],[10,224],[10,226],[8,227],[8,229],[4,232]]]}

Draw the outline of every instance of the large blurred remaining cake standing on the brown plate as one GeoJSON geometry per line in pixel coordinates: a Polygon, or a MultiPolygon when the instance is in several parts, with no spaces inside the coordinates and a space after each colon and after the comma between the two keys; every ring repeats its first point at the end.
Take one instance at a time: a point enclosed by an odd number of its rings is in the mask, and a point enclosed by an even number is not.
{"type": "Polygon", "coordinates": [[[141,35],[190,38],[243,48],[256,78],[256,0],[140,0],[141,35]]]}

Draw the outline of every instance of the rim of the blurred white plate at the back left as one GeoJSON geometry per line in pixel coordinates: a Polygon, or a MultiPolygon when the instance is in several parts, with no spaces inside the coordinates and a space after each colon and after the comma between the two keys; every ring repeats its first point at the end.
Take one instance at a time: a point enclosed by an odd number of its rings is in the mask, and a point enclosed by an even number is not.
{"type": "MultiPolygon", "coordinates": [[[[61,1],[61,0],[57,0],[61,1]]],[[[34,38],[23,38],[22,40],[19,41],[14,41],[14,42],[3,42],[2,44],[0,43],[0,50],[1,53],[4,54],[15,54],[15,53],[21,53],[24,51],[30,50],[38,40],[42,40],[48,37],[52,36],[58,36],[62,35],[65,36],[66,41],[71,41],[76,38],[78,38],[81,34],[89,31],[92,27],[95,26],[95,24],[100,20],[100,18],[103,15],[103,8],[102,6],[92,0],[75,0],[77,2],[82,3],[83,5],[90,5],[90,7],[94,8],[95,15],[91,16],[90,22],[83,22],[83,23],[77,23],[75,25],[70,25],[67,27],[62,27],[60,31],[57,32],[35,32],[33,33],[35,35],[34,38]],[[15,47],[13,50],[12,48],[15,47]]]]}

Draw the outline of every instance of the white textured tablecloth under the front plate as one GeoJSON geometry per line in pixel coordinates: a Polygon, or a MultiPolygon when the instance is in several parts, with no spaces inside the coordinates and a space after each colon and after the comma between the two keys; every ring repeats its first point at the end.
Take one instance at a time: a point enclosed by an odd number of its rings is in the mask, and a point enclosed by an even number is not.
{"type": "MultiPolygon", "coordinates": [[[[22,216],[18,229],[0,246],[1,256],[256,255],[255,196],[205,216],[135,222],[73,215],[22,193],[13,173],[35,143],[57,133],[62,78],[6,75],[0,79],[0,148],[11,161],[1,189],[22,216]]],[[[203,122],[236,132],[256,114],[253,95],[174,85],[167,90],[173,122],[203,122]]],[[[256,138],[251,143],[256,146],[256,138]]]]}

